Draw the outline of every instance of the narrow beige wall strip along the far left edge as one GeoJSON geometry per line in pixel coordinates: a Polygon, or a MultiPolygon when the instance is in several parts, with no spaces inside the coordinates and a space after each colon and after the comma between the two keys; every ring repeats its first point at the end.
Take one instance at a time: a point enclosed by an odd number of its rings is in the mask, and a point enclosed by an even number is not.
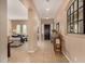
{"type": "Polygon", "coordinates": [[[8,62],[6,0],[0,0],[0,63],[8,62]]]}

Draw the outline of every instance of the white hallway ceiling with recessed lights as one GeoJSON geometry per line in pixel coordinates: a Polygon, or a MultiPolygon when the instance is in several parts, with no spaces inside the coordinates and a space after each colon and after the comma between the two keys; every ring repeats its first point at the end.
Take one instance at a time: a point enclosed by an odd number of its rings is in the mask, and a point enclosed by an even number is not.
{"type": "Polygon", "coordinates": [[[54,18],[62,1],[63,0],[49,0],[47,2],[46,0],[33,0],[33,3],[40,17],[54,18]],[[49,9],[49,11],[46,11],[46,9],[49,9]]]}

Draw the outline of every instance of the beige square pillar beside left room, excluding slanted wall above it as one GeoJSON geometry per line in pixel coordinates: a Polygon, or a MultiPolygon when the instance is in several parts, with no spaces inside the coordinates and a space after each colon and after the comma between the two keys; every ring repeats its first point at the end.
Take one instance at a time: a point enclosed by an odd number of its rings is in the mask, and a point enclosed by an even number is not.
{"type": "Polygon", "coordinates": [[[39,18],[32,9],[29,9],[29,22],[28,22],[28,36],[29,36],[29,44],[28,52],[34,52],[38,47],[38,27],[39,27],[39,18]]]}

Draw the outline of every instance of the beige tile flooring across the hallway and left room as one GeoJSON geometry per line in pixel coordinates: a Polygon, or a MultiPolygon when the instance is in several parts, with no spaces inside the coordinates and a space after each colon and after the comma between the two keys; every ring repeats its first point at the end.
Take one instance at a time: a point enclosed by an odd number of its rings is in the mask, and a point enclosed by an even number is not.
{"type": "Polygon", "coordinates": [[[27,42],[19,48],[12,48],[9,63],[68,63],[68,60],[53,50],[49,41],[38,42],[38,50],[33,53],[25,51],[27,42]]]}

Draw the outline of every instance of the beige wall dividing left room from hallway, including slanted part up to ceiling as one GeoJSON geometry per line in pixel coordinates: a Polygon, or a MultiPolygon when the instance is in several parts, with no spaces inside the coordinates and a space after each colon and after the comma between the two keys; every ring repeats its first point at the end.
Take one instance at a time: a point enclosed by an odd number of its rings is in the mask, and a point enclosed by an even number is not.
{"type": "Polygon", "coordinates": [[[32,0],[20,0],[26,8],[28,8],[28,52],[34,52],[38,48],[38,27],[41,31],[40,20],[32,0]]]}

